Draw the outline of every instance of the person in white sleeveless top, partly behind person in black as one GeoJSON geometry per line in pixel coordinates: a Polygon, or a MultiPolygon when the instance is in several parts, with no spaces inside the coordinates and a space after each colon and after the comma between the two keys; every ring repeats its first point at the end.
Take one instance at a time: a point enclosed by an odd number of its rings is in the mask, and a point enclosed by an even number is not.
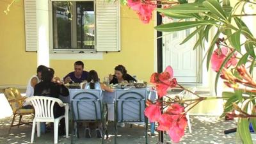
{"type": "MultiPolygon", "coordinates": [[[[42,78],[42,71],[47,68],[44,65],[39,65],[36,69],[36,75],[33,75],[29,81],[28,81],[28,86],[26,90],[26,97],[31,97],[34,95],[34,88],[35,85],[38,84],[41,81],[42,78]]],[[[31,108],[32,106],[29,105],[28,102],[24,102],[23,104],[24,108],[31,108]]]]}

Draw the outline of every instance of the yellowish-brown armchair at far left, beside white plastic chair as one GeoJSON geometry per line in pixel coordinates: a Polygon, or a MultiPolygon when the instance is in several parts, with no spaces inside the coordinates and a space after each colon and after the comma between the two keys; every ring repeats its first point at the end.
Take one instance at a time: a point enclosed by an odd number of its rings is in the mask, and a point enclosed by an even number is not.
{"type": "Polygon", "coordinates": [[[10,133],[12,127],[15,127],[15,126],[19,127],[19,125],[31,124],[32,122],[22,122],[21,121],[23,115],[33,115],[34,114],[34,109],[22,108],[22,105],[23,105],[26,97],[22,97],[22,95],[20,95],[20,92],[17,88],[5,88],[5,89],[3,89],[3,93],[6,97],[6,99],[8,100],[8,102],[12,108],[12,111],[13,111],[12,123],[8,130],[8,134],[10,133]],[[19,123],[13,124],[16,116],[20,117],[19,123]]]}

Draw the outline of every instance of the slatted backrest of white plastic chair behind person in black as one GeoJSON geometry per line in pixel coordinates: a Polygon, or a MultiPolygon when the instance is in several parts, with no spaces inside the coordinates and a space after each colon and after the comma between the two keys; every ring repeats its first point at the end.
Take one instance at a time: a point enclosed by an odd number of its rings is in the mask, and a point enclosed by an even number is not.
{"type": "Polygon", "coordinates": [[[35,109],[35,118],[51,118],[54,119],[53,107],[57,102],[60,106],[63,102],[54,97],[33,96],[26,99],[31,102],[35,109]]]}

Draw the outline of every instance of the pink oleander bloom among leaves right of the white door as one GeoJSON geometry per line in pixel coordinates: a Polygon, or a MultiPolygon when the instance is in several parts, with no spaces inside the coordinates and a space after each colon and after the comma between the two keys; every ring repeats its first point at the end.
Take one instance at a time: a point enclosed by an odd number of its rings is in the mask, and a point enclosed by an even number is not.
{"type": "MultiPolygon", "coordinates": [[[[227,55],[230,54],[231,50],[228,49],[227,47],[221,47],[221,49],[216,49],[211,57],[211,65],[212,65],[212,69],[215,72],[218,72],[220,70],[220,67],[223,63],[223,61],[225,60],[225,58],[227,58],[227,55]]],[[[236,52],[233,54],[233,56],[230,58],[230,60],[227,61],[227,63],[225,64],[225,68],[232,66],[236,66],[237,64],[237,58],[236,58],[236,52]]]]}

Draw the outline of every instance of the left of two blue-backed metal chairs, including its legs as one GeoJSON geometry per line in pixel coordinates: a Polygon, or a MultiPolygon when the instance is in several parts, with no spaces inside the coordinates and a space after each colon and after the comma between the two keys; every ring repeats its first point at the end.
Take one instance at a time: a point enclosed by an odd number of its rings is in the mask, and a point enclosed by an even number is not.
{"type": "Polygon", "coordinates": [[[74,134],[79,138],[77,122],[101,122],[102,124],[102,143],[106,129],[107,109],[102,103],[102,93],[100,90],[76,90],[70,91],[71,112],[72,112],[72,137],[74,134]]]}

